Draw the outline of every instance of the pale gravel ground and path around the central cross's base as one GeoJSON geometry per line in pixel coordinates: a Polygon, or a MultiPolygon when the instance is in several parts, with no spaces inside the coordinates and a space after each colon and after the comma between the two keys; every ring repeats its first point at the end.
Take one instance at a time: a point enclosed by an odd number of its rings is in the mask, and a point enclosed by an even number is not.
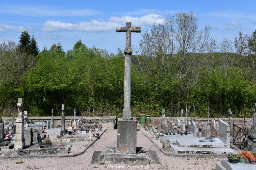
{"type": "MultiPolygon", "coordinates": [[[[69,158],[15,158],[0,159],[0,169],[111,169],[108,165],[91,165],[91,158],[95,150],[104,151],[107,146],[116,146],[117,130],[107,130],[84,154],[69,158]],[[22,161],[22,164],[16,164],[22,161]]],[[[85,142],[85,144],[87,144],[85,142]]],[[[81,143],[80,143],[81,145],[81,143]]],[[[157,151],[162,163],[160,165],[151,164],[148,169],[215,169],[216,163],[220,163],[222,158],[181,158],[171,157],[162,154],[153,143],[148,140],[140,131],[137,131],[137,147],[144,147],[146,150],[157,151]]],[[[115,165],[113,165],[115,166],[115,165]]],[[[122,165],[118,165],[122,166],[122,165]]],[[[131,169],[127,165],[125,168],[131,169]]],[[[141,165],[144,166],[145,165],[141,165]]],[[[110,166],[109,166],[110,167],[110,166]]],[[[116,168],[117,169],[117,168],[116,168]]]]}

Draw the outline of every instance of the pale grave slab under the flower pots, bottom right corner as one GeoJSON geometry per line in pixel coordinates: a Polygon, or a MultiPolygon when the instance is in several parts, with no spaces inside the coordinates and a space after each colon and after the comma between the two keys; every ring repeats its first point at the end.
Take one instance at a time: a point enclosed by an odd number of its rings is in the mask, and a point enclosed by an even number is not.
{"type": "Polygon", "coordinates": [[[243,163],[231,164],[230,162],[228,162],[228,160],[221,160],[221,165],[225,169],[229,169],[229,170],[249,170],[249,169],[251,170],[251,169],[256,169],[255,164],[243,164],[243,163]]]}

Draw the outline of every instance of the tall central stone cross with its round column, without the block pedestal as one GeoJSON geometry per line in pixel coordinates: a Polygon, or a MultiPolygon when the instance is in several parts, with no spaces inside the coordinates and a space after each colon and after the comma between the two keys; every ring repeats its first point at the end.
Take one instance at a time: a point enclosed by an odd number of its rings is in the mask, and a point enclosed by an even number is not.
{"type": "Polygon", "coordinates": [[[116,32],[126,33],[125,43],[125,85],[123,120],[131,120],[131,33],[141,32],[140,27],[131,27],[131,22],[126,22],[126,27],[116,27],[116,32]]]}

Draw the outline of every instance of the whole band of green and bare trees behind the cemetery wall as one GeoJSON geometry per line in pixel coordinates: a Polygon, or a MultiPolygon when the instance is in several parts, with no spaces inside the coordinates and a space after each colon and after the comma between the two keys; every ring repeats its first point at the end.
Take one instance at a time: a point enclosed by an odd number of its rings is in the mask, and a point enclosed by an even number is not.
{"type": "MultiPolygon", "coordinates": [[[[232,42],[209,36],[193,12],[168,15],[163,24],[142,33],[133,48],[132,115],[251,117],[256,102],[256,31],[239,32],[232,42]]],[[[124,53],[88,48],[81,40],[63,51],[61,43],[38,50],[34,36],[23,31],[19,43],[0,44],[0,112],[16,114],[17,98],[31,116],[122,116],[124,53]]]]}

